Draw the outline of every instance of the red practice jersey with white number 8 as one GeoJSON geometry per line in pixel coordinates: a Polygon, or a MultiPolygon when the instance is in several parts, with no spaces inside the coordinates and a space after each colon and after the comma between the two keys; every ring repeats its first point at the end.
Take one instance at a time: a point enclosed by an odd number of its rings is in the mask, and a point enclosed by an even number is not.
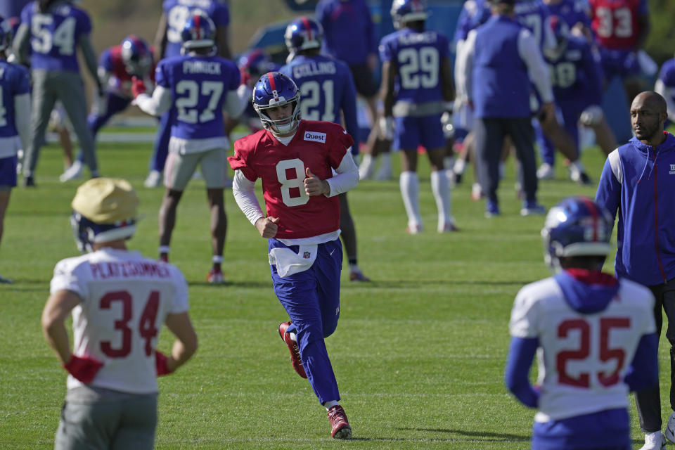
{"type": "Polygon", "coordinates": [[[338,124],[302,120],[288,146],[261,130],[238,139],[234,156],[227,159],[250,181],[262,179],[267,215],[279,219],[276,238],[311,238],[340,228],[340,203],[337,195],[309,197],[305,169],[319,179],[330,178],[353,144],[338,124]]]}

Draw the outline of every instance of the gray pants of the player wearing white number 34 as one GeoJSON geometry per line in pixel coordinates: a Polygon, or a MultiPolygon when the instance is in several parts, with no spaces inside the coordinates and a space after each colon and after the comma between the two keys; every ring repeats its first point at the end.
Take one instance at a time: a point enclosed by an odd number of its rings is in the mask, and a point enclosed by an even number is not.
{"type": "Polygon", "coordinates": [[[61,410],[54,450],[152,450],[157,427],[157,394],[103,389],[69,391],[61,410]],[[72,399],[79,397],[79,399],[72,399]]]}

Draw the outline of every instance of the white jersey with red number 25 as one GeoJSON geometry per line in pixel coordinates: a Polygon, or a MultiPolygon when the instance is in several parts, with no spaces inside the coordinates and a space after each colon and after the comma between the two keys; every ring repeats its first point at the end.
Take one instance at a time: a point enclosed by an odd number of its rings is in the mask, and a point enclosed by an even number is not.
{"type": "Polygon", "coordinates": [[[626,370],[643,335],[655,332],[652,293],[623,279],[605,309],[584,314],[570,306],[557,278],[526,285],[511,311],[511,335],[539,339],[534,420],[626,408],[626,370]]]}

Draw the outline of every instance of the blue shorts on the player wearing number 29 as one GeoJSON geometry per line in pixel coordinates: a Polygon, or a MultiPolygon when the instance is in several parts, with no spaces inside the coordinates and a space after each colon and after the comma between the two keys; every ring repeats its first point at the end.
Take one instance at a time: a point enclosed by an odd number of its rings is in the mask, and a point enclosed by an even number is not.
{"type": "Polygon", "coordinates": [[[445,147],[441,115],[423,117],[394,117],[394,150],[417,151],[418,146],[427,150],[445,147]]]}

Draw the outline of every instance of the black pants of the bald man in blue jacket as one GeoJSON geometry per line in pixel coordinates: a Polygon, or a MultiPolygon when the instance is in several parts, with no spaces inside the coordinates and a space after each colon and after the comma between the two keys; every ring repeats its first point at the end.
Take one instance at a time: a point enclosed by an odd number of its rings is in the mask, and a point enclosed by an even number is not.
{"type": "MultiPolygon", "coordinates": [[[[670,408],[675,411],[675,278],[668,283],[649,286],[654,294],[654,319],[657,336],[661,335],[663,326],[662,311],[666,311],[668,327],[666,338],[670,342],[670,408]]],[[[661,397],[659,386],[635,393],[635,404],[638,407],[640,427],[643,432],[650,433],[661,430],[661,397]]]]}

